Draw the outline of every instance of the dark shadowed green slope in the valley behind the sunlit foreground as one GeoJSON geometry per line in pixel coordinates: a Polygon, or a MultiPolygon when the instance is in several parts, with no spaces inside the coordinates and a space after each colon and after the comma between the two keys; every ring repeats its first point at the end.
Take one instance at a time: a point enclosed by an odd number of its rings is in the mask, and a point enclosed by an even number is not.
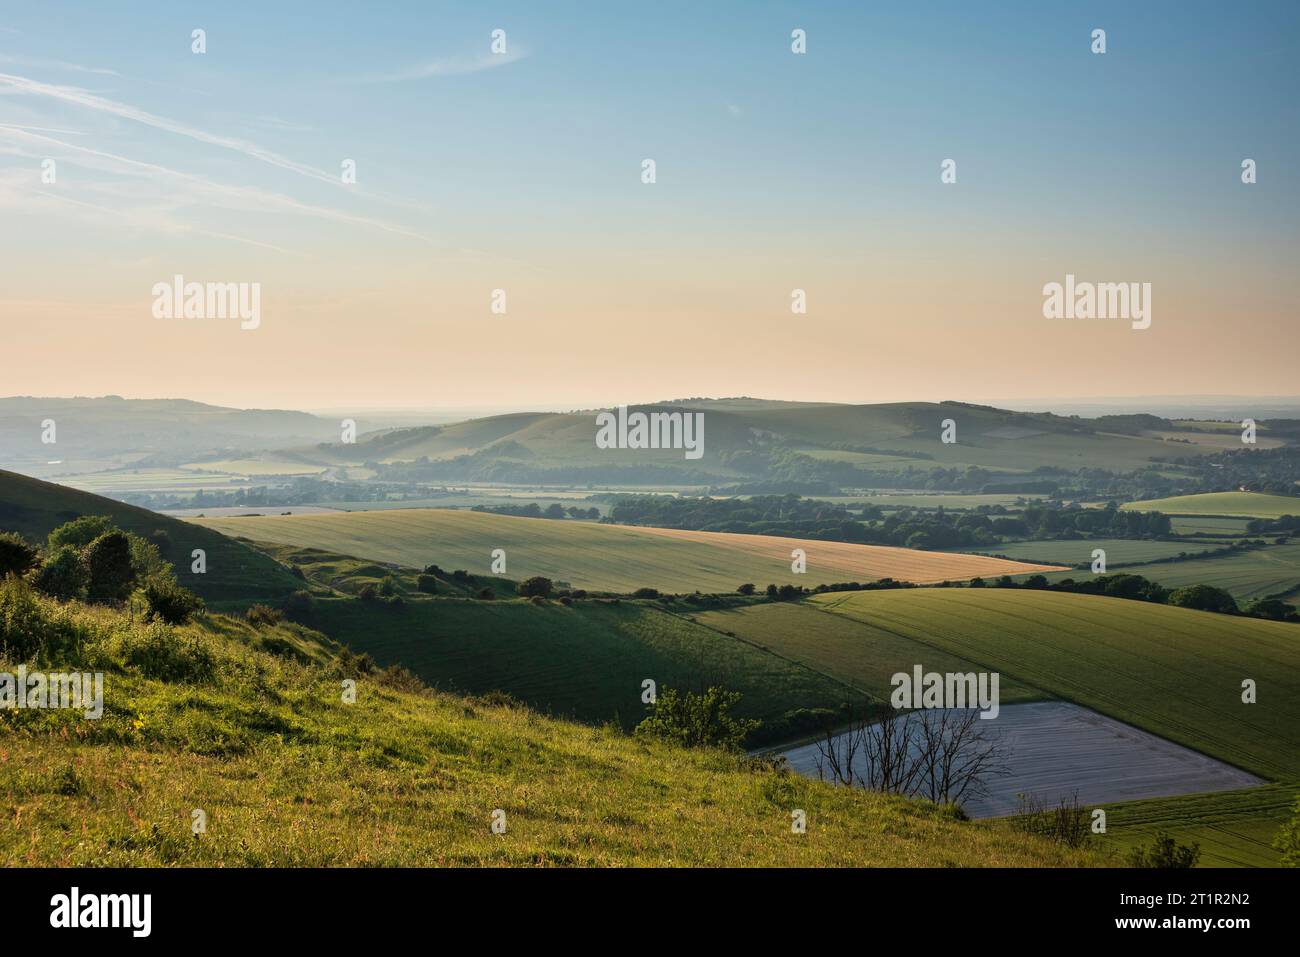
{"type": "Polygon", "coordinates": [[[806,732],[816,724],[811,716],[801,723],[800,710],[835,709],[852,697],[807,667],[634,602],[448,598],[393,607],[333,598],[317,601],[312,624],[442,689],[504,690],[543,711],[625,728],[646,714],[645,679],[659,688],[740,692],[737,713],[763,719],[755,744],[806,732]]]}

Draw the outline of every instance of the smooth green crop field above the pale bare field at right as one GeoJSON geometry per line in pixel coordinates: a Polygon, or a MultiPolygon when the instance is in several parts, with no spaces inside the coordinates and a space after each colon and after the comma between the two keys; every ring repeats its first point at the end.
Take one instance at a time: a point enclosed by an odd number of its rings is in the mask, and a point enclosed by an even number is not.
{"type": "Polygon", "coordinates": [[[1300,779],[1294,624],[1011,589],[857,592],[810,603],[1265,778],[1300,779]],[[1257,681],[1256,705],[1242,703],[1245,677],[1257,681]]]}

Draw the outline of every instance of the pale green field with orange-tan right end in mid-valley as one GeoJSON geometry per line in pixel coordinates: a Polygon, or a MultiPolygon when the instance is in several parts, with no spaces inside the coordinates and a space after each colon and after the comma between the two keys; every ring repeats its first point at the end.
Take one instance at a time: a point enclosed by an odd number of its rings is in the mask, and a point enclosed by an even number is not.
{"type": "Polygon", "coordinates": [[[506,575],[511,579],[545,575],[577,588],[610,592],[637,588],[733,592],[744,581],[759,588],[768,583],[816,585],[884,577],[933,583],[1056,571],[1053,566],[941,551],[521,519],[450,508],[196,521],[254,541],[315,547],[411,567],[437,563],[474,573],[486,573],[493,549],[504,549],[506,575]],[[792,573],[793,549],[806,550],[806,575],[792,573]]]}

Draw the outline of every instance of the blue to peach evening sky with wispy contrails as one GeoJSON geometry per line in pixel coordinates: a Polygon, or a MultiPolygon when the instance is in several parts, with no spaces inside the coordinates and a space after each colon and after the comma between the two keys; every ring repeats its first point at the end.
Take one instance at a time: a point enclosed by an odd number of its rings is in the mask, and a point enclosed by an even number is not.
{"type": "Polygon", "coordinates": [[[4,0],[0,395],[1297,394],[1297,62],[1295,3],[4,0]]]}

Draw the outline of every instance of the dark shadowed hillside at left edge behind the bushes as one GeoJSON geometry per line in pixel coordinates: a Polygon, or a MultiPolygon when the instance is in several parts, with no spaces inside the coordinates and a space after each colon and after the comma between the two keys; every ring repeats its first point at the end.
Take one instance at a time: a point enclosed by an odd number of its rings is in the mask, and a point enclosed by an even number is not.
{"type": "Polygon", "coordinates": [[[34,542],[44,542],[53,528],[82,515],[107,515],[118,528],[142,536],[162,529],[172,540],[162,549],[164,558],[176,567],[177,579],[217,605],[278,601],[302,586],[277,562],[213,529],[0,471],[0,531],[18,532],[34,542]],[[190,571],[192,549],[207,551],[205,575],[190,571]]]}

